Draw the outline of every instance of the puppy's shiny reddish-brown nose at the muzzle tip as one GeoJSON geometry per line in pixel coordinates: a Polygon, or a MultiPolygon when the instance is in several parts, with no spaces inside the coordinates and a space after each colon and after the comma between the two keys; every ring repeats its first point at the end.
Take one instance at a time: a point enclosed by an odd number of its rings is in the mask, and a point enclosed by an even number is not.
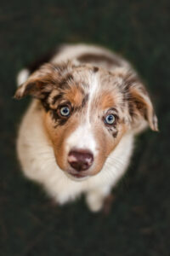
{"type": "Polygon", "coordinates": [[[94,161],[94,155],[85,149],[71,150],[68,155],[68,162],[78,172],[86,171],[94,161]]]}

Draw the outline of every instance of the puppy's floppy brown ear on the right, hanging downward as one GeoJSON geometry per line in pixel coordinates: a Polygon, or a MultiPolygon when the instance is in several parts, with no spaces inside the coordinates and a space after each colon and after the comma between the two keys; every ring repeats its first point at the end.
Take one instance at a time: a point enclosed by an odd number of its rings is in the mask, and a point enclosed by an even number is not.
{"type": "Polygon", "coordinates": [[[151,130],[158,131],[156,113],[144,85],[137,76],[133,75],[127,77],[126,83],[127,101],[133,129],[138,133],[150,125],[151,130]]]}

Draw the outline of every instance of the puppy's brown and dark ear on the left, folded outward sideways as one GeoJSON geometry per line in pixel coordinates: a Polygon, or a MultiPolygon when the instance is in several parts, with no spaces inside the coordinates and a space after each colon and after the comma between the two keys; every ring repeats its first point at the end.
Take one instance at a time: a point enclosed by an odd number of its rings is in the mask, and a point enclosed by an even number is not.
{"type": "Polygon", "coordinates": [[[42,99],[44,94],[50,92],[59,79],[59,68],[52,63],[42,65],[36,72],[21,84],[14,94],[14,98],[21,99],[24,96],[31,95],[42,99]]]}

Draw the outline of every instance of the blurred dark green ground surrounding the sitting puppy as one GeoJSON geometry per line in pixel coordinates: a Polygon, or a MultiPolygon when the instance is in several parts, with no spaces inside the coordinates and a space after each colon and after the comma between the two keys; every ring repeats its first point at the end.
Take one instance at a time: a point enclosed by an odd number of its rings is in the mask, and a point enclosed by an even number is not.
{"type": "Polygon", "coordinates": [[[0,255],[170,255],[169,1],[0,3],[0,255]],[[124,55],[147,84],[160,132],[137,138],[111,213],[81,199],[56,207],[27,181],[15,140],[29,100],[12,99],[20,68],[56,44],[101,44],[124,55]]]}

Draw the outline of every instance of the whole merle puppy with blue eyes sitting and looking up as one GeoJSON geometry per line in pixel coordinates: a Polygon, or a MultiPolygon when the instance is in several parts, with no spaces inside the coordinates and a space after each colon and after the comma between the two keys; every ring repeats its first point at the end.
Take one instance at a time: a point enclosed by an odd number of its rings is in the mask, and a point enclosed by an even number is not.
{"type": "Polygon", "coordinates": [[[84,194],[98,212],[127,170],[133,139],[158,131],[150,96],[130,63],[95,45],[61,45],[23,69],[14,97],[33,96],[17,138],[26,177],[63,205],[84,194]]]}

